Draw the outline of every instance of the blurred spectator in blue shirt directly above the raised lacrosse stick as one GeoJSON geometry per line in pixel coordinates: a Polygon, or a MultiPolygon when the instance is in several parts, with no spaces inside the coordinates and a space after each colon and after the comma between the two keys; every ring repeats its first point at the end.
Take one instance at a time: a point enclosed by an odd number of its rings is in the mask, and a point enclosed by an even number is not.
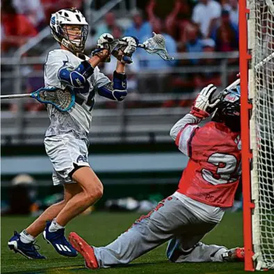
{"type": "Polygon", "coordinates": [[[133,19],[132,26],[124,32],[124,36],[135,36],[140,42],[144,42],[147,38],[152,37],[152,26],[150,22],[144,21],[142,11],[133,10],[131,16],[133,19]]]}

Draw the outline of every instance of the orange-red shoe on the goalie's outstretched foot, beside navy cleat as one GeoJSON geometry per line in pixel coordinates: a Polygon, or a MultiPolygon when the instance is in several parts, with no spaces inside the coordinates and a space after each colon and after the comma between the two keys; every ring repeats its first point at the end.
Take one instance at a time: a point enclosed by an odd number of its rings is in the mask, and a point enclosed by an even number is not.
{"type": "Polygon", "coordinates": [[[84,239],[75,232],[71,232],[69,236],[70,243],[85,259],[86,268],[99,268],[98,261],[94,254],[94,249],[84,239]]]}

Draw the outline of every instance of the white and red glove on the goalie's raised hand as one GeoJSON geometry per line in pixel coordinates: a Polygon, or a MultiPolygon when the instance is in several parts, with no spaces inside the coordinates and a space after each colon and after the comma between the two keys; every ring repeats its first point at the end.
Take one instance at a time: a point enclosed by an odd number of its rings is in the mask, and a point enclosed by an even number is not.
{"type": "Polygon", "coordinates": [[[212,98],[216,89],[216,86],[213,86],[211,83],[209,86],[200,91],[191,108],[192,115],[197,118],[204,119],[213,113],[217,104],[220,102],[220,99],[212,98]]]}

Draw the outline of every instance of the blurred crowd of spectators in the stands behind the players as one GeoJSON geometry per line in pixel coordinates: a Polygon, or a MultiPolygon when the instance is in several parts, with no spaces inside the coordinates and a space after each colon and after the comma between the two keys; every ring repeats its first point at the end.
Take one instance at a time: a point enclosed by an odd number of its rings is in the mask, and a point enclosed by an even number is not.
{"type": "MultiPolygon", "coordinates": [[[[195,56],[202,52],[239,49],[238,0],[150,0],[143,6],[137,5],[138,8],[131,10],[126,18],[117,18],[113,10],[106,13],[99,24],[90,26],[86,53],[90,54],[102,33],[112,33],[114,38],[133,35],[144,42],[154,31],[166,38],[166,48],[171,56],[188,53],[193,58],[167,62],[137,49],[134,64],[128,66],[129,90],[168,89],[179,94],[182,90],[191,92],[209,83],[221,86],[220,70],[175,74],[172,69],[198,65],[213,67],[220,64],[220,59],[195,56]]],[[[83,0],[1,0],[1,54],[37,35],[48,25],[51,13],[71,6],[83,11],[83,0]]],[[[115,63],[112,59],[101,67],[110,77],[115,63]]],[[[231,58],[228,63],[238,65],[238,60],[231,58]]],[[[228,75],[227,80],[233,81],[234,75],[228,75]]],[[[29,89],[35,88],[31,85],[29,89]]],[[[166,102],[166,106],[172,106],[172,103],[166,102]]]]}

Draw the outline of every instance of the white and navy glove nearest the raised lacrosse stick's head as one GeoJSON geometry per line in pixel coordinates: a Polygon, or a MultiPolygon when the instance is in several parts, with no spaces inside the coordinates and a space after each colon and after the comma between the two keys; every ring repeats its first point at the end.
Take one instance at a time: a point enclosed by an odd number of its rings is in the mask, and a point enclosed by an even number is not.
{"type": "Polygon", "coordinates": [[[121,39],[122,42],[126,42],[127,45],[122,45],[122,47],[116,47],[113,51],[113,56],[117,58],[122,63],[130,64],[132,63],[132,54],[136,51],[139,40],[135,37],[126,36],[121,39]]]}

